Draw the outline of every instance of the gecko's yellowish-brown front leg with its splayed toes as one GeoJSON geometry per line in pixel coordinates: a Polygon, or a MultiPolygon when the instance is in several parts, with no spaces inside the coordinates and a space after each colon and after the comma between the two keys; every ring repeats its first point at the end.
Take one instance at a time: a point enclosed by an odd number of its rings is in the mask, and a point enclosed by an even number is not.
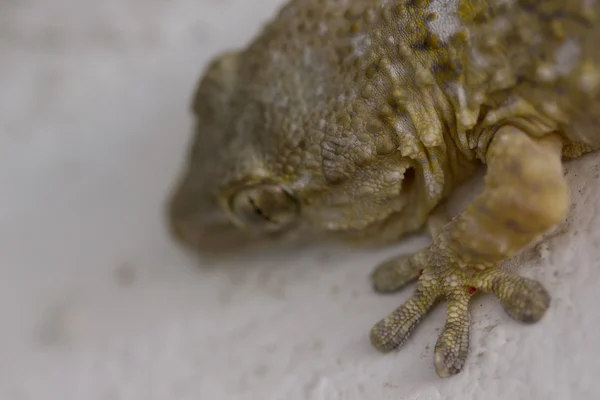
{"type": "Polygon", "coordinates": [[[374,271],[380,292],[398,290],[420,272],[414,295],[371,330],[377,349],[402,346],[433,305],[445,299],[446,325],[434,364],[437,374],[447,377],[460,372],[467,358],[468,306],[476,290],[493,293],[518,321],[536,322],[544,315],[550,296],[543,286],[497,266],[564,218],[569,196],[561,151],[558,135],[533,138],[508,125],[496,132],[486,153],[483,192],[431,246],[374,271]]]}

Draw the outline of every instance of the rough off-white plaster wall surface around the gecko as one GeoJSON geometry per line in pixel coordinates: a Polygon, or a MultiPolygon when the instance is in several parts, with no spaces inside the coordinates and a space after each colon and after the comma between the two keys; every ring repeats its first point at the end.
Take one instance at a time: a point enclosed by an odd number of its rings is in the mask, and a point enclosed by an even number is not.
{"type": "Polygon", "coordinates": [[[443,308],[398,353],[368,342],[409,295],[368,273],[425,239],[200,263],[169,240],[196,79],[281,3],[0,2],[0,399],[600,398],[599,155],[567,166],[567,223],[517,258],[547,316],[522,326],[482,296],[449,380],[443,308]]]}

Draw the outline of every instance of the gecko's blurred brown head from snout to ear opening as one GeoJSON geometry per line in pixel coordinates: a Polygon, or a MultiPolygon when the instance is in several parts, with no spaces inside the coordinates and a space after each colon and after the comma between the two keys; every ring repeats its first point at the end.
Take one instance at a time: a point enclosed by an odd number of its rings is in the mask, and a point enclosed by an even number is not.
{"type": "Polygon", "coordinates": [[[377,242],[422,225],[434,181],[424,168],[393,146],[371,157],[356,151],[366,146],[357,135],[323,134],[347,108],[323,110],[330,102],[303,88],[325,85],[320,73],[268,49],[222,55],[200,81],[194,142],[169,205],[175,236],[222,254],[317,236],[377,242]]]}

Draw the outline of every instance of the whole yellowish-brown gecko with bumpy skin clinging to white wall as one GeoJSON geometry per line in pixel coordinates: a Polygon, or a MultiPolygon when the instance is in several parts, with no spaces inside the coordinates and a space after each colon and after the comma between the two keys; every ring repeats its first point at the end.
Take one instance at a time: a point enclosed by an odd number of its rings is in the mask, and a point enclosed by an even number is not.
{"type": "Polygon", "coordinates": [[[599,0],[290,1],[202,77],[174,233],[236,251],[389,244],[437,226],[428,248],[374,270],[377,291],[416,291],[371,341],[400,347],[446,300],[434,363],[458,373],[476,290],[522,322],[549,307],[541,284],[498,265],[565,217],[563,159],[600,148],[598,18],[599,0]],[[483,192],[440,224],[440,205],[483,164],[483,192]]]}

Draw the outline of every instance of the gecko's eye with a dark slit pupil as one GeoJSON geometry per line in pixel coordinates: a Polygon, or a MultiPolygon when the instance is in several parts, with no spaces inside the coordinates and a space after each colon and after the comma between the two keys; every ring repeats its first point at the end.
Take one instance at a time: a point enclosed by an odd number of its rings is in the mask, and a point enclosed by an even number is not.
{"type": "Polygon", "coordinates": [[[274,231],[292,222],[300,205],[280,185],[256,185],[233,195],[231,211],[243,226],[274,231]]]}

